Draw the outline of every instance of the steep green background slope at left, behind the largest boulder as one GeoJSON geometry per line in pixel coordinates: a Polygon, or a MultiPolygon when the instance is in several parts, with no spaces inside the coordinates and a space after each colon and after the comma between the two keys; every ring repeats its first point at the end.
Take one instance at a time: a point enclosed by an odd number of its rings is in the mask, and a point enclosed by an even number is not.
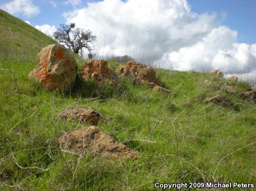
{"type": "Polygon", "coordinates": [[[0,58],[34,60],[41,48],[57,42],[0,9],[0,58]]]}

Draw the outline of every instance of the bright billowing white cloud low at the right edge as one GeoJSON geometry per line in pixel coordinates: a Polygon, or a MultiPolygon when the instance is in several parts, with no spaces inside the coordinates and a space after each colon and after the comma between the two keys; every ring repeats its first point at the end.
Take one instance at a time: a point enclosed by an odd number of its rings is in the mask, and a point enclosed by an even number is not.
{"type": "Polygon", "coordinates": [[[253,55],[256,44],[236,43],[237,32],[225,26],[213,29],[192,46],[166,55],[179,70],[222,70],[226,73],[248,73],[256,70],[253,55]]]}

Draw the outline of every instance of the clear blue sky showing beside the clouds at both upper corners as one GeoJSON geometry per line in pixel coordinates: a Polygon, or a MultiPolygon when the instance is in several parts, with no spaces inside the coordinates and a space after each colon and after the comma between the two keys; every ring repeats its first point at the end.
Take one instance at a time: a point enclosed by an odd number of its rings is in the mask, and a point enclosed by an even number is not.
{"type": "MultiPolygon", "coordinates": [[[[74,0],[75,1],[75,0],[74,0]]],[[[72,9],[87,7],[88,3],[98,2],[100,0],[81,0],[79,4],[64,4],[64,0],[32,0],[33,4],[38,6],[40,13],[31,18],[22,13],[13,15],[28,20],[32,25],[49,24],[58,27],[64,23],[63,13],[72,11],[72,9]],[[54,2],[56,7],[54,7],[54,2]]],[[[1,4],[6,4],[11,0],[0,0],[1,4]]],[[[216,12],[221,18],[222,25],[229,26],[238,31],[237,41],[239,43],[252,44],[256,42],[256,0],[188,0],[191,11],[199,14],[216,12]]]]}

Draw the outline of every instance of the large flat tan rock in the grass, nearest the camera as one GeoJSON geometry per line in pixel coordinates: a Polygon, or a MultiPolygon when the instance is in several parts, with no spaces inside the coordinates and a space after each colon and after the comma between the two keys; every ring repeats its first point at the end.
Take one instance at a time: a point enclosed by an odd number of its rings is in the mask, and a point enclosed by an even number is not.
{"type": "Polygon", "coordinates": [[[117,160],[137,158],[138,152],[132,151],[123,143],[118,143],[111,136],[106,135],[99,128],[90,126],[61,135],[57,142],[62,150],[79,154],[91,154],[117,160]],[[83,151],[83,152],[82,152],[83,151]]]}

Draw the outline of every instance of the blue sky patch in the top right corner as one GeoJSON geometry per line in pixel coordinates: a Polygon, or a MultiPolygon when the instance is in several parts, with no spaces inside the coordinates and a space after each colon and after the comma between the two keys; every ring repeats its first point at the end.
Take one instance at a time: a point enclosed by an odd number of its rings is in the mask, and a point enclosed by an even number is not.
{"type": "Polygon", "coordinates": [[[256,0],[188,0],[197,13],[225,13],[222,24],[238,31],[239,43],[256,42],[256,0]]]}

